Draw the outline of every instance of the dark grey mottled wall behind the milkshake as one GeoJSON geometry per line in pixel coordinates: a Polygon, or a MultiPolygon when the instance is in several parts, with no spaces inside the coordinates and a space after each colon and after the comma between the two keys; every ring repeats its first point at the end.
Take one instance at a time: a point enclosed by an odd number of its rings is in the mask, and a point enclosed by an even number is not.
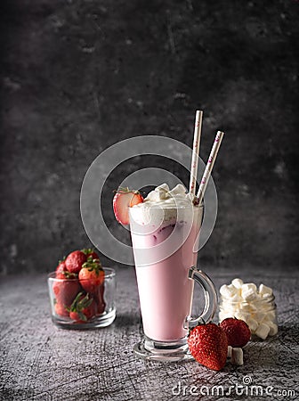
{"type": "MultiPolygon", "coordinates": [[[[1,273],[50,271],[88,245],[79,193],[93,159],[133,135],[191,145],[196,109],[205,111],[204,160],[215,130],[226,132],[214,168],[219,214],[202,263],[297,266],[298,7],[2,1],[1,273]]],[[[121,166],[111,188],[137,163],[121,166]]],[[[111,198],[108,224],[122,236],[111,198]]]]}

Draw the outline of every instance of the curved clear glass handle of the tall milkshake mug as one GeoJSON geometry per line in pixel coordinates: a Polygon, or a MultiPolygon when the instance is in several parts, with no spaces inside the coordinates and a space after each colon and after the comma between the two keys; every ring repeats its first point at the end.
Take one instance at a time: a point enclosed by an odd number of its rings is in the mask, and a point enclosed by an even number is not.
{"type": "Polygon", "coordinates": [[[187,318],[188,329],[197,326],[198,324],[205,324],[211,322],[217,308],[217,293],[214,288],[212,280],[197,267],[192,266],[189,269],[189,278],[197,282],[203,289],[205,294],[206,305],[202,314],[196,318],[189,316],[187,318]],[[191,326],[191,327],[190,327],[191,326]]]}

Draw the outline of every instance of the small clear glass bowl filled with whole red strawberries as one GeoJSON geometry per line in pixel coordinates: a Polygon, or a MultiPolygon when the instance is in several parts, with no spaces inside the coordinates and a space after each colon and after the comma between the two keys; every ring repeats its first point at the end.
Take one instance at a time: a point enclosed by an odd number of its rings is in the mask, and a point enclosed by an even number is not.
{"type": "Polygon", "coordinates": [[[53,323],[64,329],[106,327],[116,317],[115,271],[93,249],[74,250],[48,275],[53,323]]]}

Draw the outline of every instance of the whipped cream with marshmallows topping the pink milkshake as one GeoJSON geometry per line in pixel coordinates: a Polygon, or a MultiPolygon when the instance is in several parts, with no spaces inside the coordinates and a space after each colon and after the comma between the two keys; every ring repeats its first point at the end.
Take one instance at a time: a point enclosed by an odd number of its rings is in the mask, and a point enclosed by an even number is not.
{"type": "Polygon", "coordinates": [[[194,195],[186,193],[182,184],[175,185],[172,190],[167,184],[161,184],[151,191],[143,202],[130,208],[130,213],[138,224],[161,224],[161,220],[175,220],[180,208],[192,210],[193,199],[194,195]]]}

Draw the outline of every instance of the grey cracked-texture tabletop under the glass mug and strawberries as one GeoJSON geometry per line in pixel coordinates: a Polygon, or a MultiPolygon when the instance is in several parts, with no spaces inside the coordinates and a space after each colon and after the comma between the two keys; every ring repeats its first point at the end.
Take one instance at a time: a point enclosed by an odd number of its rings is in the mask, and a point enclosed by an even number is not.
{"type": "MultiPolygon", "coordinates": [[[[214,271],[214,267],[210,267],[207,273],[219,289],[239,272],[238,269],[214,271]]],[[[298,399],[298,276],[290,274],[286,277],[280,272],[267,274],[256,268],[253,274],[241,277],[257,284],[262,281],[273,288],[278,305],[279,333],[264,341],[251,340],[244,349],[244,364],[234,366],[228,362],[222,372],[214,372],[194,361],[160,364],[136,359],[133,345],[141,340],[142,329],[132,268],[117,269],[115,322],[92,331],[68,331],[53,325],[45,274],[4,277],[0,283],[0,399],[298,399]],[[246,380],[247,383],[252,381],[247,389],[246,380]],[[179,381],[186,386],[185,395],[183,389],[178,393],[179,381]],[[190,396],[191,386],[197,386],[198,394],[202,391],[204,395],[190,396]],[[213,396],[213,386],[220,386],[224,397],[221,393],[213,396]],[[254,386],[260,386],[257,396],[254,386]],[[266,393],[268,386],[271,386],[270,394],[266,393]]],[[[195,291],[196,296],[198,292],[195,291]]]]}

